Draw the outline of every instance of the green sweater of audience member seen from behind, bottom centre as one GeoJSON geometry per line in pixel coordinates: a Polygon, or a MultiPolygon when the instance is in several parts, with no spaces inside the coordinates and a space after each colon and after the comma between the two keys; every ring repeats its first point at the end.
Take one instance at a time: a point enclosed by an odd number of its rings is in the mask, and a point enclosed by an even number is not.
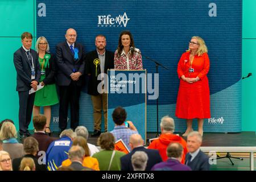
{"type": "MultiPolygon", "coordinates": [[[[92,157],[98,160],[101,171],[108,171],[109,163],[112,156],[112,150],[102,150],[97,152],[92,157]]],[[[120,158],[126,155],[124,152],[115,151],[114,158],[110,167],[110,171],[120,171],[121,170],[121,161],[120,158]]]]}

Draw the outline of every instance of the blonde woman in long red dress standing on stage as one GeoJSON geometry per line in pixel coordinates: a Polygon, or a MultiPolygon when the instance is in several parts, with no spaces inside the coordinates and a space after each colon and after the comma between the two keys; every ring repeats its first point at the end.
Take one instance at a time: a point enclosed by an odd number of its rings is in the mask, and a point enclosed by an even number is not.
{"type": "Polygon", "coordinates": [[[198,131],[203,136],[204,118],[210,118],[210,90],[207,78],[210,61],[207,52],[204,40],[193,36],[188,51],[181,55],[177,65],[180,87],[175,115],[187,119],[187,130],[183,137],[193,131],[193,118],[197,118],[198,131]]]}

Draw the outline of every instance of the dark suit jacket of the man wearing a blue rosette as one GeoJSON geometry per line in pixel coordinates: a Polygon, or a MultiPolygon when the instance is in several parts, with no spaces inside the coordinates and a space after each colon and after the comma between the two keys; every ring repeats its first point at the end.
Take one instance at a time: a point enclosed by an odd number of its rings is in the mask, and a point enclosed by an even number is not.
{"type": "MultiPolygon", "coordinates": [[[[75,60],[72,52],[68,46],[67,41],[59,43],[56,46],[56,63],[57,63],[57,85],[68,86],[71,83],[70,75],[73,73],[73,69],[76,72],[84,75],[85,62],[84,62],[84,47],[75,42],[74,49],[78,49],[79,59],[75,60]]],[[[80,76],[76,81],[77,86],[81,86],[83,83],[83,77],[80,76]]]]}

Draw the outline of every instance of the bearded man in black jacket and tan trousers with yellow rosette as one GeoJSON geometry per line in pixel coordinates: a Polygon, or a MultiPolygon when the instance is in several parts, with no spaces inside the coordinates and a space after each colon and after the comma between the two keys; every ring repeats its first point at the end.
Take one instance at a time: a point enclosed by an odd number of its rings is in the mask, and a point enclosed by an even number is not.
{"type": "Polygon", "coordinates": [[[106,88],[104,91],[104,84],[98,86],[107,74],[108,69],[114,68],[114,52],[107,51],[106,37],[104,35],[97,35],[95,39],[96,50],[89,52],[85,56],[86,74],[89,76],[88,94],[91,95],[93,104],[93,118],[94,118],[94,133],[92,137],[97,137],[101,134],[101,118],[102,107],[104,112],[105,131],[107,131],[108,117],[107,117],[107,94],[106,88]]]}

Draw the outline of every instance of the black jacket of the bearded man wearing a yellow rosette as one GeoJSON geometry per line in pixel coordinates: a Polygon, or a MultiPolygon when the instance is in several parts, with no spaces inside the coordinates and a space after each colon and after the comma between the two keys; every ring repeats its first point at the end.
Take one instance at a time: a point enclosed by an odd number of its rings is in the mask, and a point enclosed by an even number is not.
{"type": "MultiPolygon", "coordinates": [[[[97,76],[96,76],[96,65],[93,64],[94,59],[98,59],[97,50],[91,51],[85,56],[85,64],[86,69],[85,73],[90,74],[89,83],[88,83],[88,94],[97,96],[98,90],[97,86],[101,82],[97,80],[98,75],[101,73],[100,65],[97,66],[97,76]]],[[[108,69],[114,68],[114,52],[105,51],[105,65],[104,65],[104,73],[107,73],[108,69]]]]}

